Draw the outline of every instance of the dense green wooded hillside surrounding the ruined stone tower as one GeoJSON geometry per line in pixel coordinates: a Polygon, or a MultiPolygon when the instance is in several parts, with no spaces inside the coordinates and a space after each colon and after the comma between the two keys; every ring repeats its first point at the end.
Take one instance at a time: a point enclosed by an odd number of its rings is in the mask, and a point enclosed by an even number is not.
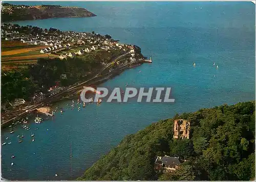
{"type": "Polygon", "coordinates": [[[255,102],[176,115],[127,135],[78,180],[254,180],[255,102]],[[174,120],[190,121],[189,140],[173,139],[174,120]],[[157,174],[156,156],[185,158],[157,174]]]}

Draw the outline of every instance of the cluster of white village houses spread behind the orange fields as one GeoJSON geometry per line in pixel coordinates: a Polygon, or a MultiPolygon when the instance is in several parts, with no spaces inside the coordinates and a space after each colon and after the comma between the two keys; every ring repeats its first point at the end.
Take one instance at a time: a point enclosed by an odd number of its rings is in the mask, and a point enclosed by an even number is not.
{"type": "MultiPolygon", "coordinates": [[[[28,26],[27,26],[28,27],[28,26]]],[[[19,40],[22,43],[28,43],[33,45],[45,46],[44,49],[38,50],[41,54],[51,54],[51,56],[59,57],[60,59],[67,59],[68,57],[81,56],[92,51],[105,50],[111,52],[111,50],[122,50],[130,53],[130,61],[136,61],[136,52],[134,45],[127,45],[118,43],[108,36],[101,36],[99,34],[78,33],[73,31],[61,32],[40,30],[40,33],[33,31],[30,26],[30,34],[20,33],[17,29],[17,25],[4,24],[2,25],[1,37],[4,40],[19,40]]]]}

